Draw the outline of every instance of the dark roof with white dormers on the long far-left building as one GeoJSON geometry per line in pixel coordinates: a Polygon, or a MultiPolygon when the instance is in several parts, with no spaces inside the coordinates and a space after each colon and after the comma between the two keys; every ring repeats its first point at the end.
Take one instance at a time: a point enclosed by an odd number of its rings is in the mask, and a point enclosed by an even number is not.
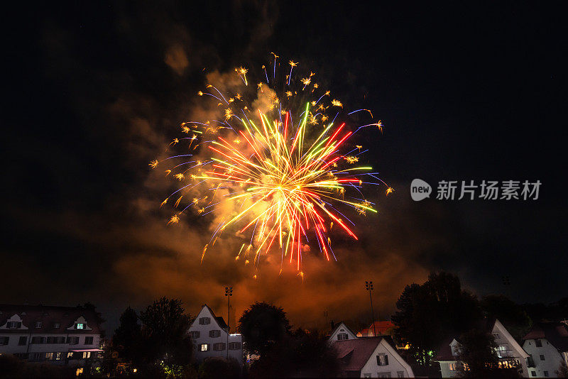
{"type": "MultiPolygon", "coordinates": [[[[101,326],[97,322],[97,314],[92,309],[77,307],[51,307],[48,305],[16,305],[0,304],[0,326],[6,324],[14,314],[22,319],[23,326],[32,333],[68,333],[67,328],[75,324],[79,317],[84,317],[90,329],[73,329],[73,333],[100,333],[101,326]],[[35,322],[41,322],[36,328],[35,322]],[[60,324],[55,329],[55,324],[60,324]]],[[[21,333],[22,329],[2,329],[2,333],[21,333]]]]}

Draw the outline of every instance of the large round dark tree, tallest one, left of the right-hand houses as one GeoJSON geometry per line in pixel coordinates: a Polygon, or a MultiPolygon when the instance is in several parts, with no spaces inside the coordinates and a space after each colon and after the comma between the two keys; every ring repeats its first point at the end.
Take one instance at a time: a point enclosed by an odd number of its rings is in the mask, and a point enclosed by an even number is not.
{"type": "Polygon", "coordinates": [[[459,278],[450,273],[432,273],[423,285],[405,287],[391,317],[399,344],[410,344],[410,353],[423,366],[444,339],[471,329],[481,318],[479,302],[462,290],[459,278]]]}

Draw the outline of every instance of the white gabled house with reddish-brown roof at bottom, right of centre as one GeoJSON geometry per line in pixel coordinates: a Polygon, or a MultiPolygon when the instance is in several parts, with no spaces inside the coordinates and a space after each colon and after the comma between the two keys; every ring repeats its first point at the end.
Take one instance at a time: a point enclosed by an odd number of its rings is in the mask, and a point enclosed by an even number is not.
{"type": "Polygon", "coordinates": [[[413,369],[398,354],[389,336],[333,341],[344,378],[413,378],[413,369]]]}

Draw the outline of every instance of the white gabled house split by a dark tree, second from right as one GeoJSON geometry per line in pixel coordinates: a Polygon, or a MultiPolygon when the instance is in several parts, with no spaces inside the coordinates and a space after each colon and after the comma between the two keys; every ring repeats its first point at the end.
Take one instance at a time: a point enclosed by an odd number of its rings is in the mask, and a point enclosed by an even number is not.
{"type": "MultiPolygon", "coordinates": [[[[478,326],[479,330],[485,330],[493,334],[497,344],[496,353],[499,359],[499,366],[510,368],[518,366],[522,370],[521,375],[526,377],[528,353],[518,344],[509,334],[505,326],[498,319],[484,319],[478,326]]],[[[442,378],[454,378],[457,375],[457,363],[460,353],[461,343],[459,336],[451,336],[444,341],[437,350],[434,361],[439,363],[442,371],[442,378]]]]}

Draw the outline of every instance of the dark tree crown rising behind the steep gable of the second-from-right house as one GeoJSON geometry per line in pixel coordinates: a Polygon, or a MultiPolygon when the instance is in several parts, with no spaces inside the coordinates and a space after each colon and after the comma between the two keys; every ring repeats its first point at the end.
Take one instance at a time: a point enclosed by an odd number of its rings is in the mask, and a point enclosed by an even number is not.
{"type": "Polygon", "coordinates": [[[503,295],[488,295],[481,300],[481,309],[487,317],[495,317],[517,341],[523,339],[532,326],[532,320],[520,305],[503,295]]]}

